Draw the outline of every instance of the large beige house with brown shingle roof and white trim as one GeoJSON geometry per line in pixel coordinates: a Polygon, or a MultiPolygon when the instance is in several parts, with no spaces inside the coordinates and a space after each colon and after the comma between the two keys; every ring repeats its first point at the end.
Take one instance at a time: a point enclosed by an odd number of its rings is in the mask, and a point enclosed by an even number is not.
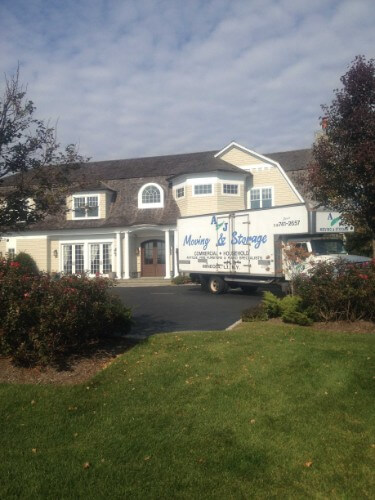
{"type": "MultiPolygon", "coordinates": [[[[221,151],[100,161],[67,211],[0,240],[1,254],[29,253],[40,270],[130,279],[178,274],[177,218],[306,202],[296,187],[310,150],[221,151]]],[[[75,172],[74,175],[78,175],[75,172]]]]}

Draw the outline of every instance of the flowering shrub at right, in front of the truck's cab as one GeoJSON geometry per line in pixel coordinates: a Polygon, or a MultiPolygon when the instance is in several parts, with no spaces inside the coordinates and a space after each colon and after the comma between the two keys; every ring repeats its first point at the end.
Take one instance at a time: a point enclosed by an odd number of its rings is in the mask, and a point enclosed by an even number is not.
{"type": "Polygon", "coordinates": [[[319,262],[294,279],[303,310],[321,321],[375,320],[375,261],[319,262]]]}

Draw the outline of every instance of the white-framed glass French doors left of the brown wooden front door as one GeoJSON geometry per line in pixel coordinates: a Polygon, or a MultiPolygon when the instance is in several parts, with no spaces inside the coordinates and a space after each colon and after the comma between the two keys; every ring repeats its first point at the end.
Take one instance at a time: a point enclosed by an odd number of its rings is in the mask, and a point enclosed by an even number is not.
{"type": "Polygon", "coordinates": [[[64,244],[62,255],[64,274],[88,272],[96,275],[112,272],[112,243],[64,244]]]}

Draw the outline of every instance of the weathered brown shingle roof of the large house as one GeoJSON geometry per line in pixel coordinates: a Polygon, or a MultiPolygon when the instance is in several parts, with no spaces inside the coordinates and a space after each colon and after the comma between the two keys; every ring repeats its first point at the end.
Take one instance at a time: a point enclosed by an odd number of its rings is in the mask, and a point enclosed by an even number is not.
{"type": "MultiPolygon", "coordinates": [[[[171,193],[169,179],[187,173],[218,170],[244,173],[242,169],[220,158],[215,158],[215,154],[216,151],[205,151],[201,153],[86,163],[81,168],[71,172],[72,186],[80,186],[81,190],[94,188],[108,190],[112,202],[107,217],[105,219],[66,220],[66,215],[63,213],[58,216],[47,217],[30,229],[93,229],[142,224],[175,224],[180,214],[171,193]],[[164,189],[164,207],[139,209],[138,192],[151,179],[164,189]]],[[[264,156],[280,163],[298,187],[295,174],[306,169],[311,159],[311,150],[285,151],[265,154],[264,156]]],[[[4,179],[4,187],[11,184],[11,178],[4,179]]]]}

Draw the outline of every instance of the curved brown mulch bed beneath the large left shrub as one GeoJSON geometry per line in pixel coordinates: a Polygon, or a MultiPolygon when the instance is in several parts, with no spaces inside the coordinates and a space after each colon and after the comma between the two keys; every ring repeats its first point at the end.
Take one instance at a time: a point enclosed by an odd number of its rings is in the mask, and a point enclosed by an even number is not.
{"type": "Polygon", "coordinates": [[[111,338],[88,348],[56,367],[23,368],[9,358],[0,357],[0,382],[12,384],[80,384],[109,366],[122,353],[134,346],[125,338],[111,338]]]}

